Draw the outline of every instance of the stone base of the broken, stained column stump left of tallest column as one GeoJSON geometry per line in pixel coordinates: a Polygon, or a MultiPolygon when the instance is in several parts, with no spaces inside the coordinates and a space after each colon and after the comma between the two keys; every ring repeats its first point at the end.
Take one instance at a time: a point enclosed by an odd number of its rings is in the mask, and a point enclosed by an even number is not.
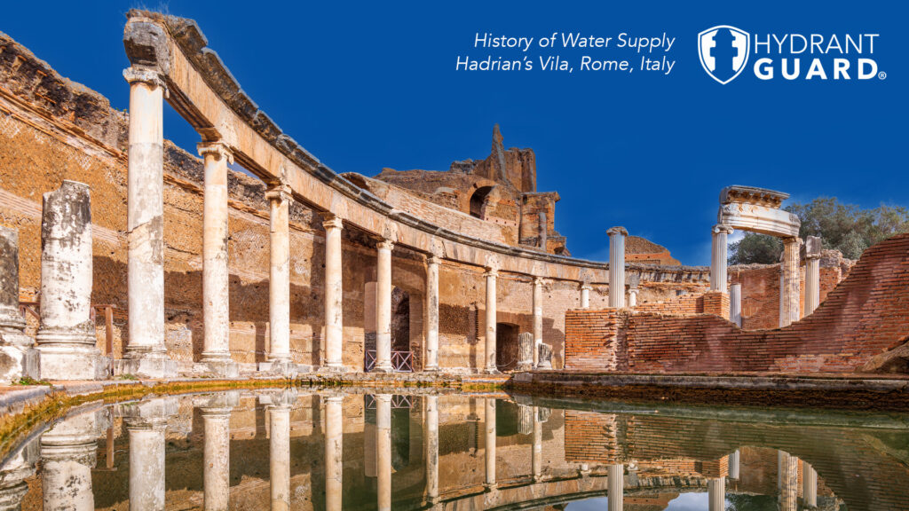
{"type": "Polygon", "coordinates": [[[46,344],[35,347],[38,354],[38,379],[106,380],[111,359],[102,356],[94,345],[46,344]]]}

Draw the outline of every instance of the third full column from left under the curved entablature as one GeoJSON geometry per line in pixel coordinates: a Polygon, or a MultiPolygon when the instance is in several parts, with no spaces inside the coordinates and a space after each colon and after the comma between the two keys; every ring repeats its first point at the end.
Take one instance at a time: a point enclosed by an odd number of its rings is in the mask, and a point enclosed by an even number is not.
{"type": "Polygon", "coordinates": [[[290,356],[290,186],[268,188],[269,276],[268,276],[268,369],[291,370],[290,356]]]}

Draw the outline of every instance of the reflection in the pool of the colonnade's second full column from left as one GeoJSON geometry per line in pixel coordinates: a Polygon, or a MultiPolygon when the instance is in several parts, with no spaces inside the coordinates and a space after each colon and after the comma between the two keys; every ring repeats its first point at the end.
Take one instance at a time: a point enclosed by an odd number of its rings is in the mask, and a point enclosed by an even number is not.
{"type": "Polygon", "coordinates": [[[230,504],[230,414],[239,404],[236,392],[206,398],[202,406],[205,427],[205,511],[221,511],[230,504]]]}

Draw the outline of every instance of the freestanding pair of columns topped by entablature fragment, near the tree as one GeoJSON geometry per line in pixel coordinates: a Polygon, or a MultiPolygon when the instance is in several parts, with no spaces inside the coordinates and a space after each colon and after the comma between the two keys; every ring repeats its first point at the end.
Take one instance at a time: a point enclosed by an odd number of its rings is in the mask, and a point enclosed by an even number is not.
{"type": "Polygon", "coordinates": [[[713,228],[710,290],[726,292],[726,242],[734,229],[783,239],[780,286],[780,326],[799,320],[799,249],[802,221],[780,209],[789,194],[754,186],[727,186],[720,192],[720,210],[713,228]]]}

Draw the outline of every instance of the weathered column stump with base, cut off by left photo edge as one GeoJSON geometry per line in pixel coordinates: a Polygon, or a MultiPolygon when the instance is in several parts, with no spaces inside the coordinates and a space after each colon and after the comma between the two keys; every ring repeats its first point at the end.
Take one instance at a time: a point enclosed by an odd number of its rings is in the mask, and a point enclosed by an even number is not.
{"type": "Polygon", "coordinates": [[[0,382],[40,377],[34,344],[19,316],[19,233],[0,226],[0,382]]]}

